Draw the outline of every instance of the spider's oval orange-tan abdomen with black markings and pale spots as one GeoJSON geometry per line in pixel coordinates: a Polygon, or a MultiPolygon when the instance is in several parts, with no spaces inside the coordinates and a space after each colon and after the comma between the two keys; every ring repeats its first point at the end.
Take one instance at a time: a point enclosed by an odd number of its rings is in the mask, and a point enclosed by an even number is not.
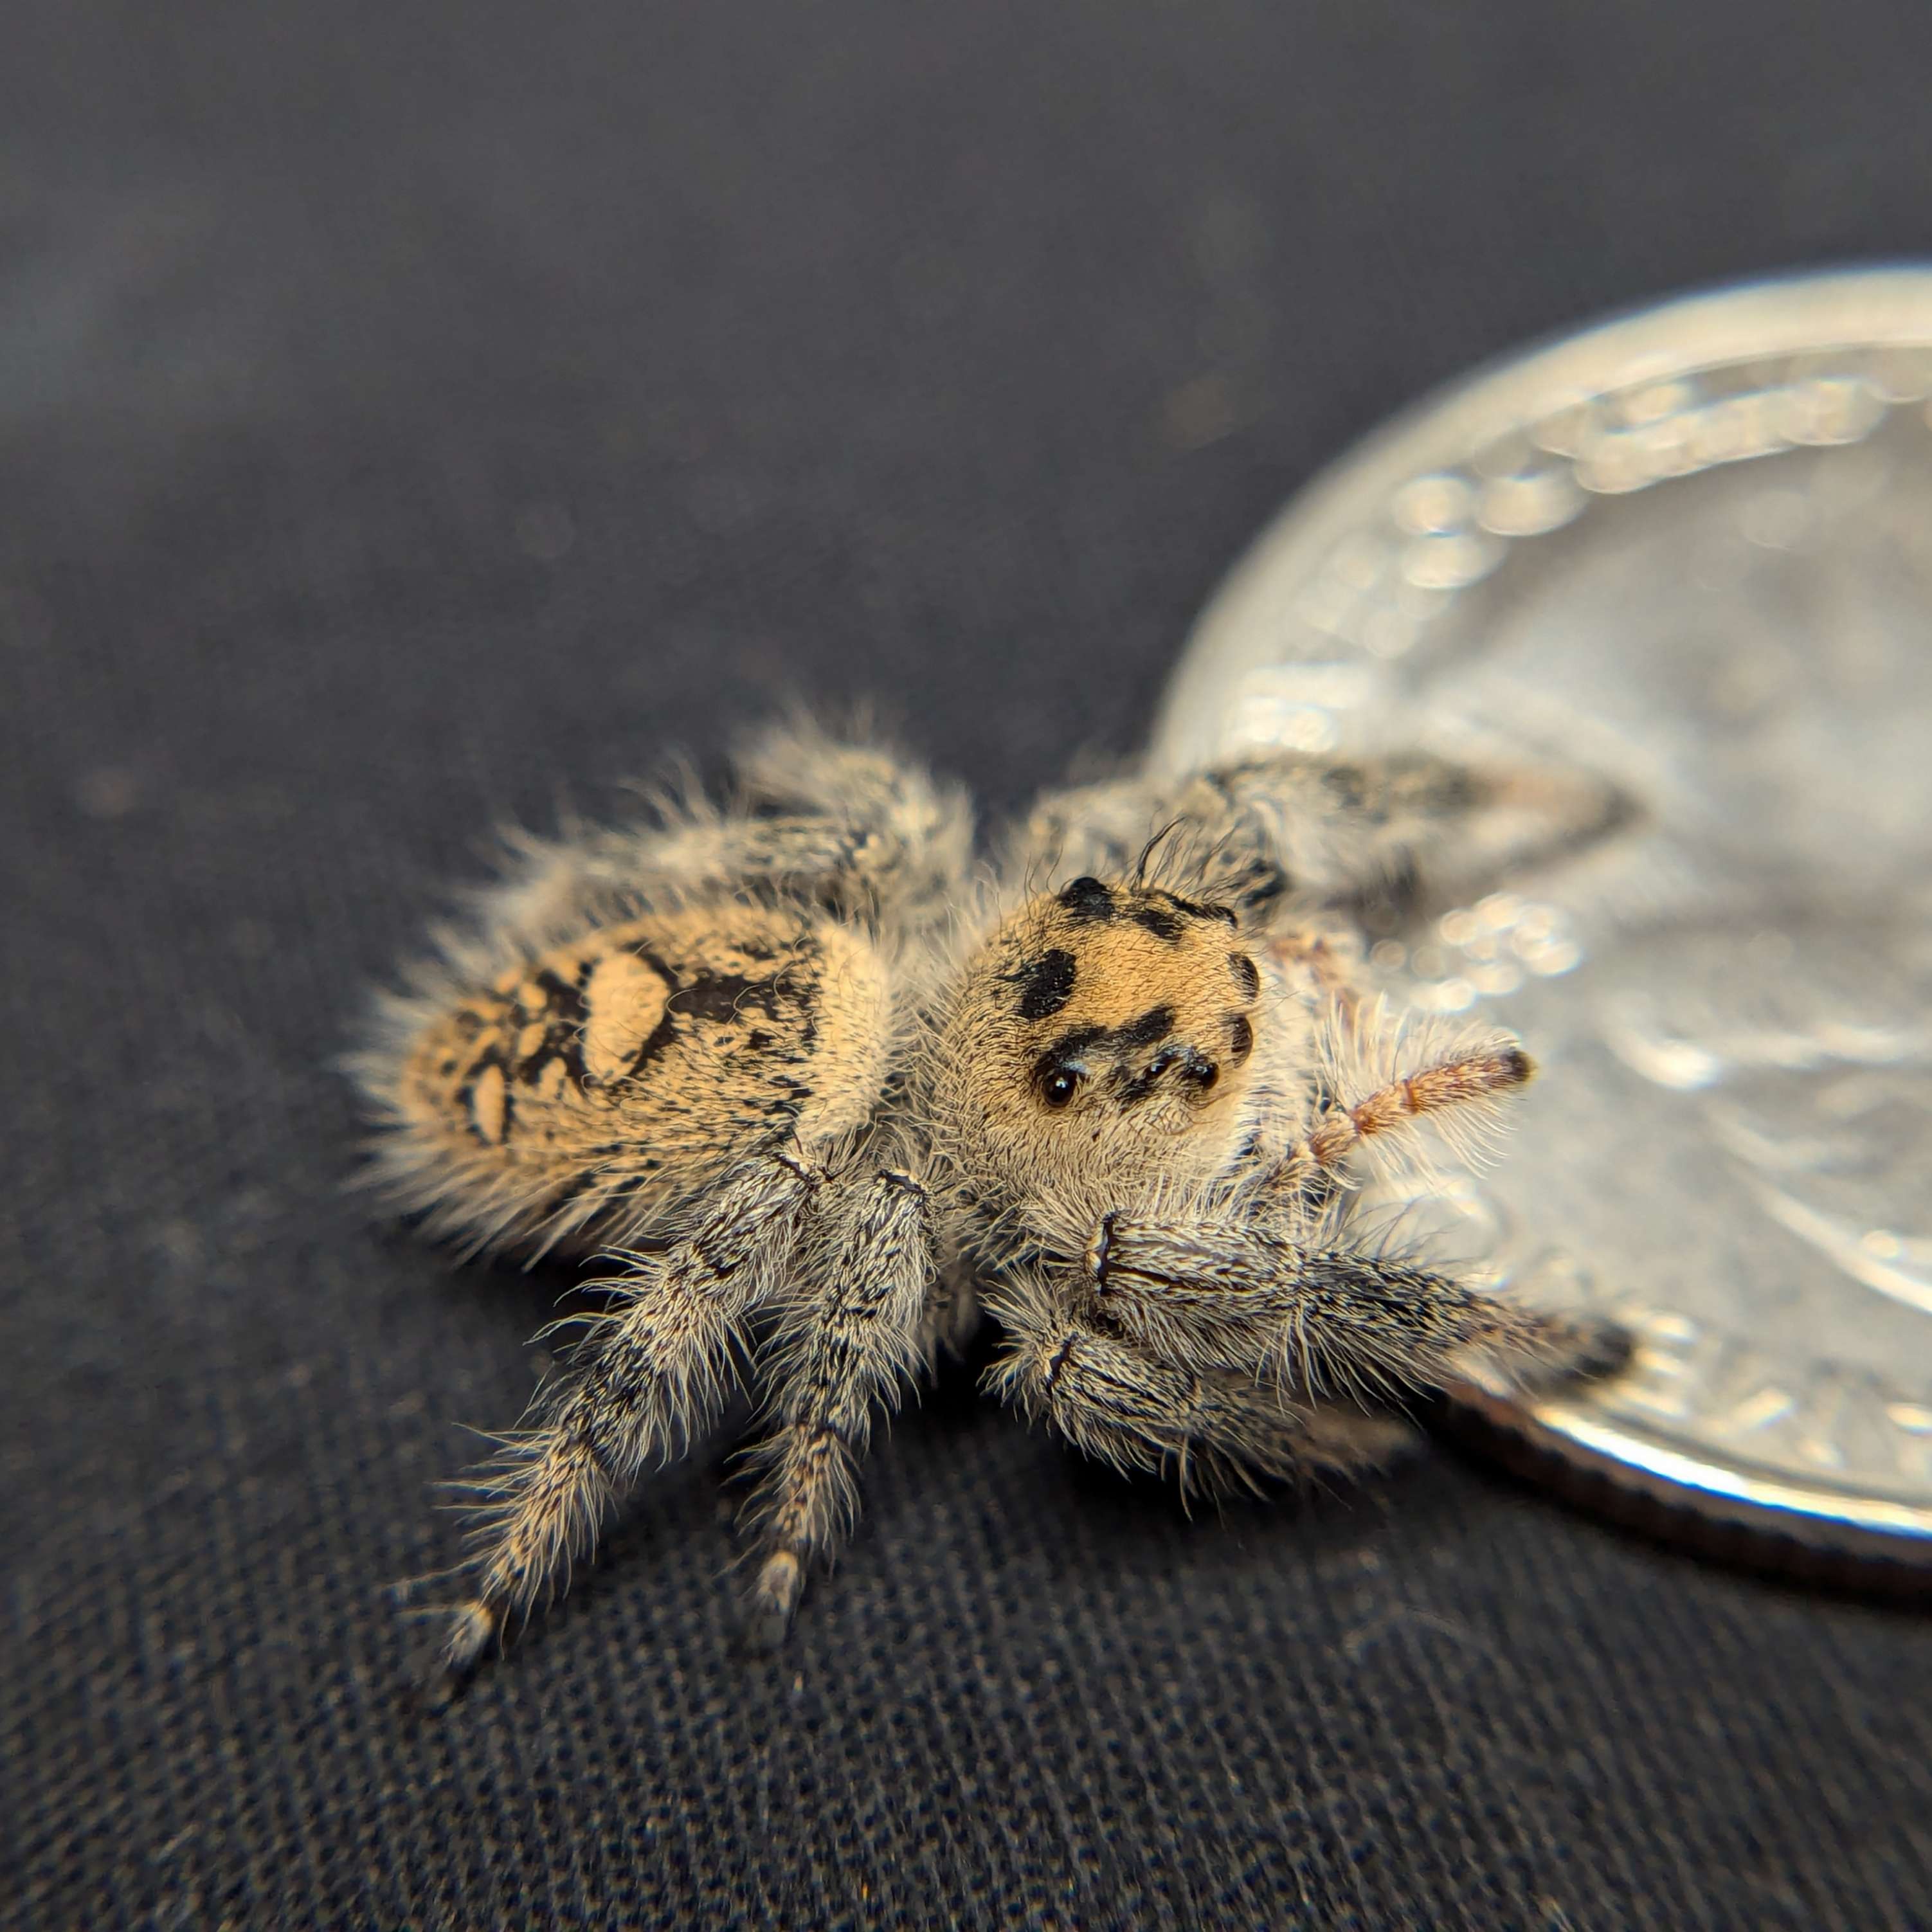
{"type": "Polygon", "coordinates": [[[728,902],[589,927],[446,1005],[371,1080],[388,1177],[483,1240],[624,1238],[752,1148],[858,1126],[891,987],[852,925],[728,902]]]}

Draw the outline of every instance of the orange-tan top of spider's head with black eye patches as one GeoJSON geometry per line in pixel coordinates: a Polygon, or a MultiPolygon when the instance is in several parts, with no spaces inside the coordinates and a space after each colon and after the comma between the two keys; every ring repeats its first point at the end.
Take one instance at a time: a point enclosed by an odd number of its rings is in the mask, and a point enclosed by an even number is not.
{"type": "Polygon", "coordinates": [[[1020,1192],[1219,1165],[1260,991],[1227,906],[1074,879],[968,966],[941,1105],[1020,1192]]]}

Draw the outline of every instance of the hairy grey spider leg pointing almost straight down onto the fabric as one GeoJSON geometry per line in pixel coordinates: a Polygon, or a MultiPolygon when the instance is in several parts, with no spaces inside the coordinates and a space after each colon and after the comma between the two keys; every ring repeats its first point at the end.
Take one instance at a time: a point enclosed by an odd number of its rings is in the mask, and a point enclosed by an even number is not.
{"type": "Polygon", "coordinates": [[[923,1323],[935,1279],[925,1190],[875,1173],[823,1200],[802,1256],[804,1293],[773,1339],[775,1428],[753,1451],[759,1567],[750,1636],[773,1648],[806,1573],[850,1534],[858,1464],[875,1406],[896,1406],[929,1358],[923,1323]]]}

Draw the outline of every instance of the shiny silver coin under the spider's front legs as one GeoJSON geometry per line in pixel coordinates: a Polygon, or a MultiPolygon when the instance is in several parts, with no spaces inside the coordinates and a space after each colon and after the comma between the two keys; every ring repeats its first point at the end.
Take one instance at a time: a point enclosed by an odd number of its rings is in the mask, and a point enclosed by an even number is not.
{"type": "Polygon", "coordinates": [[[1437,1217],[1526,1298],[1638,1335],[1613,1381],[1464,1399],[1600,1499],[1907,1575],[1932,1565],[1928,396],[1928,270],[1675,301],[1480,373],[1262,535],[1151,753],[1424,742],[1642,804],[1376,947],[1393,997],[1492,1010],[1546,1070],[1437,1217]]]}

